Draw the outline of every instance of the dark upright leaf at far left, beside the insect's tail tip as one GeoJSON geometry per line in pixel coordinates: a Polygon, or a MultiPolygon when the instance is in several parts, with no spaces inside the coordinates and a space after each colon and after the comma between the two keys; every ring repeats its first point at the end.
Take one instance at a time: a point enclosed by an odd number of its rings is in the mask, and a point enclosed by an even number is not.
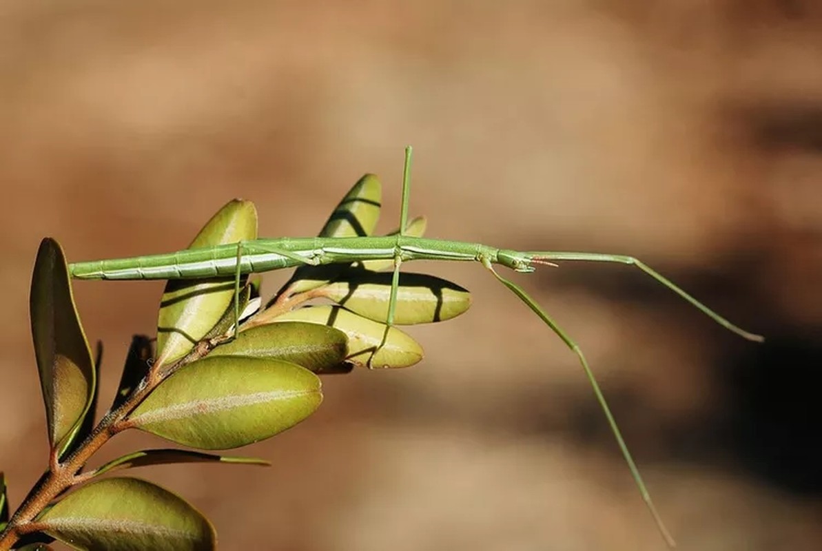
{"type": "Polygon", "coordinates": [[[72,442],[95,393],[95,368],[77,315],[66,258],[57,241],[40,242],[31,278],[31,335],[46,407],[48,442],[72,442]]]}

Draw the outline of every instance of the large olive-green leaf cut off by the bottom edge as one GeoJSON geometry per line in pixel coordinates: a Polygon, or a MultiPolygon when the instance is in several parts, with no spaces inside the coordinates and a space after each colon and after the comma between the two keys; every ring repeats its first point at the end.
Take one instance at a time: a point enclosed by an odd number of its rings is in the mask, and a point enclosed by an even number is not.
{"type": "Polygon", "coordinates": [[[214,527],[169,490],[135,478],[82,486],[35,519],[38,530],[88,551],[216,549],[214,527]]]}

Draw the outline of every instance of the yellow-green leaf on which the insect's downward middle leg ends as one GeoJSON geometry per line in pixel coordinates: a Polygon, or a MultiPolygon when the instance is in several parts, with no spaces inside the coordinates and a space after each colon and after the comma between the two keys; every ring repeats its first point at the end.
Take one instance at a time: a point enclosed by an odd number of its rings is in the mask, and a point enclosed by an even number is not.
{"type": "MultiPolygon", "coordinates": [[[[275,322],[307,321],[312,324],[338,328],[349,337],[349,356],[346,361],[354,365],[367,365],[372,352],[382,342],[386,324],[380,324],[353,314],[340,306],[309,306],[279,316],[275,322]]],[[[385,346],[376,351],[372,361],[375,368],[408,367],[423,359],[423,347],[407,333],[392,327],[388,331],[385,346]]]]}

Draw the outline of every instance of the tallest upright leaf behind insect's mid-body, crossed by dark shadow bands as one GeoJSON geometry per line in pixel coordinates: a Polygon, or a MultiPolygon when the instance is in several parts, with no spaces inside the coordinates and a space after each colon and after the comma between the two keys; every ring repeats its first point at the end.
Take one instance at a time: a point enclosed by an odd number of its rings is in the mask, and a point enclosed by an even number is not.
{"type": "MultiPolygon", "coordinates": [[[[374,232],[380,218],[382,186],[373,174],[360,178],[339,202],[322,227],[321,237],[362,237],[374,232]]],[[[336,278],[346,269],[345,264],[324,266],[300,266],[280,292],[288,289],[289,294],[311,291],[336,278]]],[[[277,295],[280,294],[277,293],[277,295]]]]}

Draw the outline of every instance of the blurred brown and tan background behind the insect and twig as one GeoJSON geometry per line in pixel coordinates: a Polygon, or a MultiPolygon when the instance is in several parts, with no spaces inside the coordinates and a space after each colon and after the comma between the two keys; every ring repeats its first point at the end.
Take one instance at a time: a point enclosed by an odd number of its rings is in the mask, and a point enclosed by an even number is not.
{"type": "MultiPolygon", "coordinates": [[[[639,256],[517,276],[587,353],[682,549],[820,549],[822,8],[741,2],[0,3],[0,467],[45,466],[35,250],[186,246],[225,201],[313,235],[363,172],[395,227],[403,147],[429,234],[639,256]]],[[[274,466],[135,475],[222,549],[661,549],[575,357],[478,265],[409,370],[325,379],[274,466]]],[[[286,274],[266,285],[276,288],[286,274]]],[[[75,286],[110,396],[161,282],[75,286]]],[[[122,434],[98,461],[159,439],[122,434]]]]}

